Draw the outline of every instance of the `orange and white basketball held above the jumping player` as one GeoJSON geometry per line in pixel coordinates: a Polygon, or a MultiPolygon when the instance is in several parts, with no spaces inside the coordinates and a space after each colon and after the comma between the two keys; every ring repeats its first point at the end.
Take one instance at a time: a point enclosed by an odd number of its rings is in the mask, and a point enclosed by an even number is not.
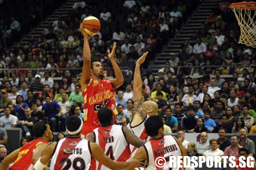
{"type": "Polygon", "coordinates": [[[96,35],[101,30],[101,22],[94,16],[88,16],[83,21],[84,31],[88,35],[96,35]]]}

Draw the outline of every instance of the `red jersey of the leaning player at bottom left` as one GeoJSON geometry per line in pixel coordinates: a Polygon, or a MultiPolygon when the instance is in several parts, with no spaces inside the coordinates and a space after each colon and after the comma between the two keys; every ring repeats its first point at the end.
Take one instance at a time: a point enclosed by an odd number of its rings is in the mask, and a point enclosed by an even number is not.
{"type": "Polygon", "coordinates": [[[14,161],[14,164],[10,166],[10,169],[24,170],[29,169],[30,165],[34,165],[34,163],[32,162],[33,152],[37,145],[40,143],[47,142],[42,139],[35,139],[24,144],[24,146],[21,147],[19,155],[14,161]]]}

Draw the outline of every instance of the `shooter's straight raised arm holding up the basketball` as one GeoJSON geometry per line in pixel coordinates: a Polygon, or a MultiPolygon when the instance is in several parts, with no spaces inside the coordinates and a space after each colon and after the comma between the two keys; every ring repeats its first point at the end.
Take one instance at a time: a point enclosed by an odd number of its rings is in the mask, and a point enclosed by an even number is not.
{"type": "Polygon", "coordinates": [[[83,49],[83,61],[84,65],[82,68],[82,75],[80,77],[81,89],[82,91],[87,87],[87,84],[90,81],[90,73],[91,73],[91,50],[89,46],[89,35],[85,33],[83,24],[80,24],[80,31],[84,36],[84,49],[83,49]]]}

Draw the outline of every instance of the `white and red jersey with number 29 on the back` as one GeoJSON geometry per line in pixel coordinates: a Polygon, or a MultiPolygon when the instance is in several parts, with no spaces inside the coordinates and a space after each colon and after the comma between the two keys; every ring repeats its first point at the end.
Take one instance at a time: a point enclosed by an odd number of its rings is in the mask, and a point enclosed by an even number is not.
{"type": "Polygon", "coordinates": [[[88,170],[90,165],[90,141],[82,138],[63,138],[56,144],[51,169],[88,170]]]}

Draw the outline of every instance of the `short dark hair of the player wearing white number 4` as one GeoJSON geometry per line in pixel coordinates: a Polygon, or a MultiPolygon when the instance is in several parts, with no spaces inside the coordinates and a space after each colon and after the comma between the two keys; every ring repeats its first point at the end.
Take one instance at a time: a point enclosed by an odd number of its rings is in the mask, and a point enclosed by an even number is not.
{"type": "Polygon", "coordinates": [[[108,107],[102,107],[99,110],[99,112],[98,112],[99,123],[101,123],[101,124],[109,124],[109,123],[111,123],[112,118],[113,118],[113,112],[108,107]]]}

